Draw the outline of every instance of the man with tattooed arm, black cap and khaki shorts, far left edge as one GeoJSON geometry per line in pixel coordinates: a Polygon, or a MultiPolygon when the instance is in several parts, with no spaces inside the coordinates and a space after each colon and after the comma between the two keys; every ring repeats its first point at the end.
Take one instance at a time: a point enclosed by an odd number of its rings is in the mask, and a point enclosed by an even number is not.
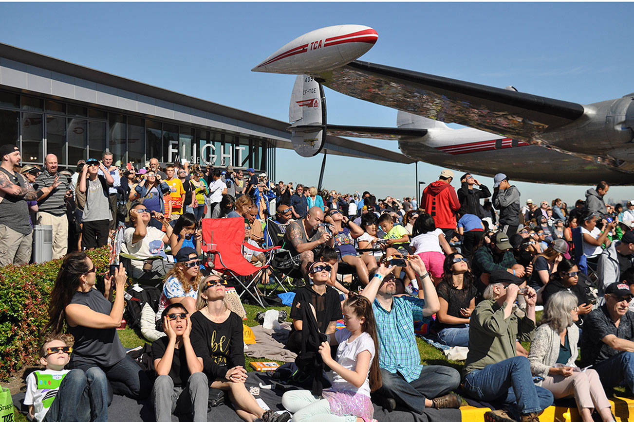
{"type": "Polygon", "coordinates": [[[33,231],[29,223],[27,201],[37,201],[59,184],[35,190],[20,174],[13,171],[20,164],[20,149],[15,145],[0,146],[0,265],[27,264],[31,258],[33,231]]]}

